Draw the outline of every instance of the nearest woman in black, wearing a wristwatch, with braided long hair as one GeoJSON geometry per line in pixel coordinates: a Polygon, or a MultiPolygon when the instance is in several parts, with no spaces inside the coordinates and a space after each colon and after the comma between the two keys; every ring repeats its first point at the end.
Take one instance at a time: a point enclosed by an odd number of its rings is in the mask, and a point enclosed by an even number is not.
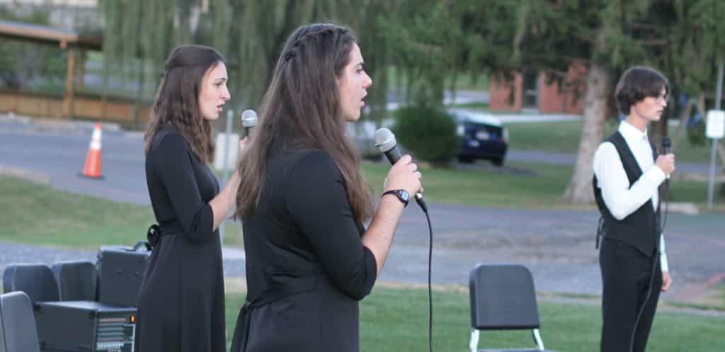
{"type": "Polygon", "coordinates": [[[238,168],[248,292],[233,352],[359,351],[358,300],[383,267],[403,194],[421,189],[405,155],[374,209],[345,134],[371,84],[348,28],[306,25],[288,38],[238,168]]]}

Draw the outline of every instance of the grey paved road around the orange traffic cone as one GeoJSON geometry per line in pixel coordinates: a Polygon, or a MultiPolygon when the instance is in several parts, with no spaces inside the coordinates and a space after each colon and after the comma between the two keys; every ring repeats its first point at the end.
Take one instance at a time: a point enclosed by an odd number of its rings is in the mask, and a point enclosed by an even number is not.
{"type": "Polygon", "coordinates": [[[0,165],[45,173],[57,189],[149,205],[141,134],[105,128],[101,139],[104,179],[78,176],[86,160],[91,128],[88,125],[58,130],[0,122],[0,165]]]}

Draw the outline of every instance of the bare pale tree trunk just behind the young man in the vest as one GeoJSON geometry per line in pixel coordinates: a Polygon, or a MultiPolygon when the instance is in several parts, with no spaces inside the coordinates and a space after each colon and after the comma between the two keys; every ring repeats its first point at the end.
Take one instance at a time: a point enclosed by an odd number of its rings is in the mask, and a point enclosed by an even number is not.
{"type": "Polygon", "coordinates": [[[604,67],[592,65],[587,72],[587,91],[584,93],[584,123],[579,142],[579,155],[564,199],[571,204],[589,204],[592,192],[592,163],[594,153],[604,138],[604,121],[610,94],[609,73],[604,67]]]}

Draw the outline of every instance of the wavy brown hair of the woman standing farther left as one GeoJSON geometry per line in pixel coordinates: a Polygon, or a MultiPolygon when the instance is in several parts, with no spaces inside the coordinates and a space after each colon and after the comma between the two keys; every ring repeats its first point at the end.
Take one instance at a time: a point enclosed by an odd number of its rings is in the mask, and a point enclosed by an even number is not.
{"type": "Polygon", "coordinates": [[[144,153],[163,126],[173,126],[202,163],[213,161],[212,122],[202,118],[199,91],[204,75],[220,63],[224,58],[209,46],[182,45],[171,52],[144,134],[144,153]]]}

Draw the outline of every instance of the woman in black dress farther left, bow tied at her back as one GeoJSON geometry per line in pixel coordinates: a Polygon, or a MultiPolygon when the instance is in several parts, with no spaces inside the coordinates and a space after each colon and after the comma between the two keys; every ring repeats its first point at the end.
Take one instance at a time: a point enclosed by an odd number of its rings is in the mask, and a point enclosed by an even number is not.
{"type": "Polygon", "coordinates": [[[138,295],[136,351],[223,352],[224,277],[217,227],[233,207],[207,163],[212,121],[229,99],[221,55],[179,46],[166,61],[144,135],[146,182],[159,231],[138,295]]]}

